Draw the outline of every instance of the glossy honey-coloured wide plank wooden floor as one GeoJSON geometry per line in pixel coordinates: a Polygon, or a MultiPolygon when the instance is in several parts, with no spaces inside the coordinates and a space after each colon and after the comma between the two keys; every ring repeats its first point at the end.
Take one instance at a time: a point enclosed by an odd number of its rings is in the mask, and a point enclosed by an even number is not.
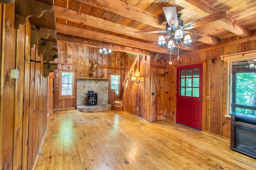
{"type": "Polygon", "coordinates": [[[229,141],[169,121],[148,123],[124,111],[58,111],[36,170],[255,170],[229,141]]]}

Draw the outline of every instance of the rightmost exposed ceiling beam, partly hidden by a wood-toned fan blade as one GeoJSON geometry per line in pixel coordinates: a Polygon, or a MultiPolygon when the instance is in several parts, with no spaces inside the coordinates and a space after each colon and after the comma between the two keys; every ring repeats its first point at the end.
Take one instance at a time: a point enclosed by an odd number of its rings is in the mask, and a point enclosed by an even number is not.
{"type": "MultiPolygon", "coordinates": [[[[183,8],[193,11],[195,14],[197,14],[200,17],[204,17],[208,14],[213,14],[219,11],[217,8],[205,2],[204,0],[170,0],[170,1],[179,6],[182,6],[183,8]]],[[[226,18],[222,20],[218,20],[216,22],[221,27],[243,38],[250,37],[252,35],[252,31],[245,28],[243,25],[237,23],[229,16],[226,16],[226,18]]]]}

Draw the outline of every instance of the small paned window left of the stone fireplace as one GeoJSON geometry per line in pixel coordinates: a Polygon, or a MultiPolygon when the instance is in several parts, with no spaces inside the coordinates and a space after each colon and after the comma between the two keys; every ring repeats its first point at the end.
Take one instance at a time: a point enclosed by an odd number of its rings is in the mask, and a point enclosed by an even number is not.
{"type": "Polygon", "coordinates": [[[74,98],[74,72],[60,70],[60,97],[74,98]]]}

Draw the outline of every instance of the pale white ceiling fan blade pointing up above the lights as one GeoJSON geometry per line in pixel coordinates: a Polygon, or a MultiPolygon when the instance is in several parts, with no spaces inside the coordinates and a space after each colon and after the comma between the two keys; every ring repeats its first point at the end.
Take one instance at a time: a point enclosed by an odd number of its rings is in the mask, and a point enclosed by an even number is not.
{"type": "Polygon", "coordinates": [[[178,18],[177,18],[177,11],[176,6],[164,6],[164,15],[166,18],[166,21],[168,22],[168,25],[172,26],[172,24],[175,23],[175,26],[178,25],[178,18]]]}

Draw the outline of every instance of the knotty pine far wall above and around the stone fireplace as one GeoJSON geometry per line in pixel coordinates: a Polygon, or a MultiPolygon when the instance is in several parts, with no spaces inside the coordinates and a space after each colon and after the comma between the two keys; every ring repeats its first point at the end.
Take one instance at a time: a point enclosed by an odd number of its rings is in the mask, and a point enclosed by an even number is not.
{"type": "MultiPolygon", "coordinates": [[[[57,63],[58,68],[62,70],[76,70],[75,80],[77,77],[109,79],[110,74],[120,74],[120,96],[116,97],[116,100],[122,100],[124,77],[127,70],[130,69],[136,54],[112,51],[111,54],[104,55],[99,53],[99,48],[60,40],[58,40],[58,53],[59,57],[55,59],[54,63],[57,63]],[[94,59],[98,60],[99,65],[96,71],[92,72],[90,64],[94,59]]],[[[59,77],[59,70],[55,70],[53,109],[75,108],[76,98],[59,98],[59,77]]]]}

